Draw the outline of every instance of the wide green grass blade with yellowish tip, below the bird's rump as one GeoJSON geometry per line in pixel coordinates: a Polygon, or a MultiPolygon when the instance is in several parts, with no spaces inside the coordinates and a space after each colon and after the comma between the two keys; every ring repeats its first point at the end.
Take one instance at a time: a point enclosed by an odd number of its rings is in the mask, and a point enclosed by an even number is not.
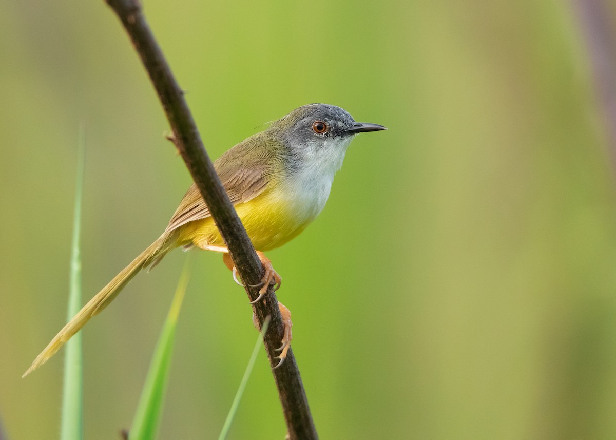
{"type": "Polygon", "coordinates": [[[176,294],[171,308],[164,321],[163,328],[156,343],[156,348],[150,362],[144,388],[141,391],[135,417],[128,433],[129,440],[153,440],[158,436],[158,427],[163,413],[164,394],[167,388],[173,337],[176,333],[177,316],[182,306],[182,299],[190,275],[190,256],[186,259],[184,271],[177,283],[176,294]]]}

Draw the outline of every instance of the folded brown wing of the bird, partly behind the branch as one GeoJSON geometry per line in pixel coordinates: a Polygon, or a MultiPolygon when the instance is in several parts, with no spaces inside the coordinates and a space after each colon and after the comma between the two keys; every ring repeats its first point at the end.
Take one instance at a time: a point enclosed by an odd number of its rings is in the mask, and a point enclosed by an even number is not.
{"type": "MultiPolygon", "coordinates": [[[[248,202],[267,187],[274,170],[274,152],[277,149],[264,149],[262,142],[273,141],[263,133],[255,134],[235,145],[214,162],[216,173],[233,205],[248,202]]],[[[165,232],[209,216],[208,206],[197,186],[192,184],[171,217],[165,232]]]]}

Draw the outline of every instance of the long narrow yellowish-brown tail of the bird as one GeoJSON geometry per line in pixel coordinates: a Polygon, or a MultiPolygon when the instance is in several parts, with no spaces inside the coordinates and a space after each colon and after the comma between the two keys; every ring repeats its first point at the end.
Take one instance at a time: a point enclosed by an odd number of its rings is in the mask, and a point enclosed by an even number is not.
{"type": "Polygon", "coordinates": [[[140,253],[131,264],[126,266],[123,271],[116,275],[105,287],[97,293],[94,298],[83,306],[83,308],[68,322],[67,325],[55,335],[55,338],[51,340],[49,345],[39,354],[28,371],[23,373],[22,377],[26,377],[33,370],[43,365],[47,360],[54,356],[63,344],[68,341],[71,336],[79,332],[81,327],[86,325],[86,322],[94,315],[99,314],[105,307],[107,307],[118,293],[128,284],[137,273],[147,266],[154,265],[163,258],[172,248],[176,247],[176,240],[173,237],[172,232],[166,232],[161,235],[158,240],[152,243],[148,248],[140,253]]]}

